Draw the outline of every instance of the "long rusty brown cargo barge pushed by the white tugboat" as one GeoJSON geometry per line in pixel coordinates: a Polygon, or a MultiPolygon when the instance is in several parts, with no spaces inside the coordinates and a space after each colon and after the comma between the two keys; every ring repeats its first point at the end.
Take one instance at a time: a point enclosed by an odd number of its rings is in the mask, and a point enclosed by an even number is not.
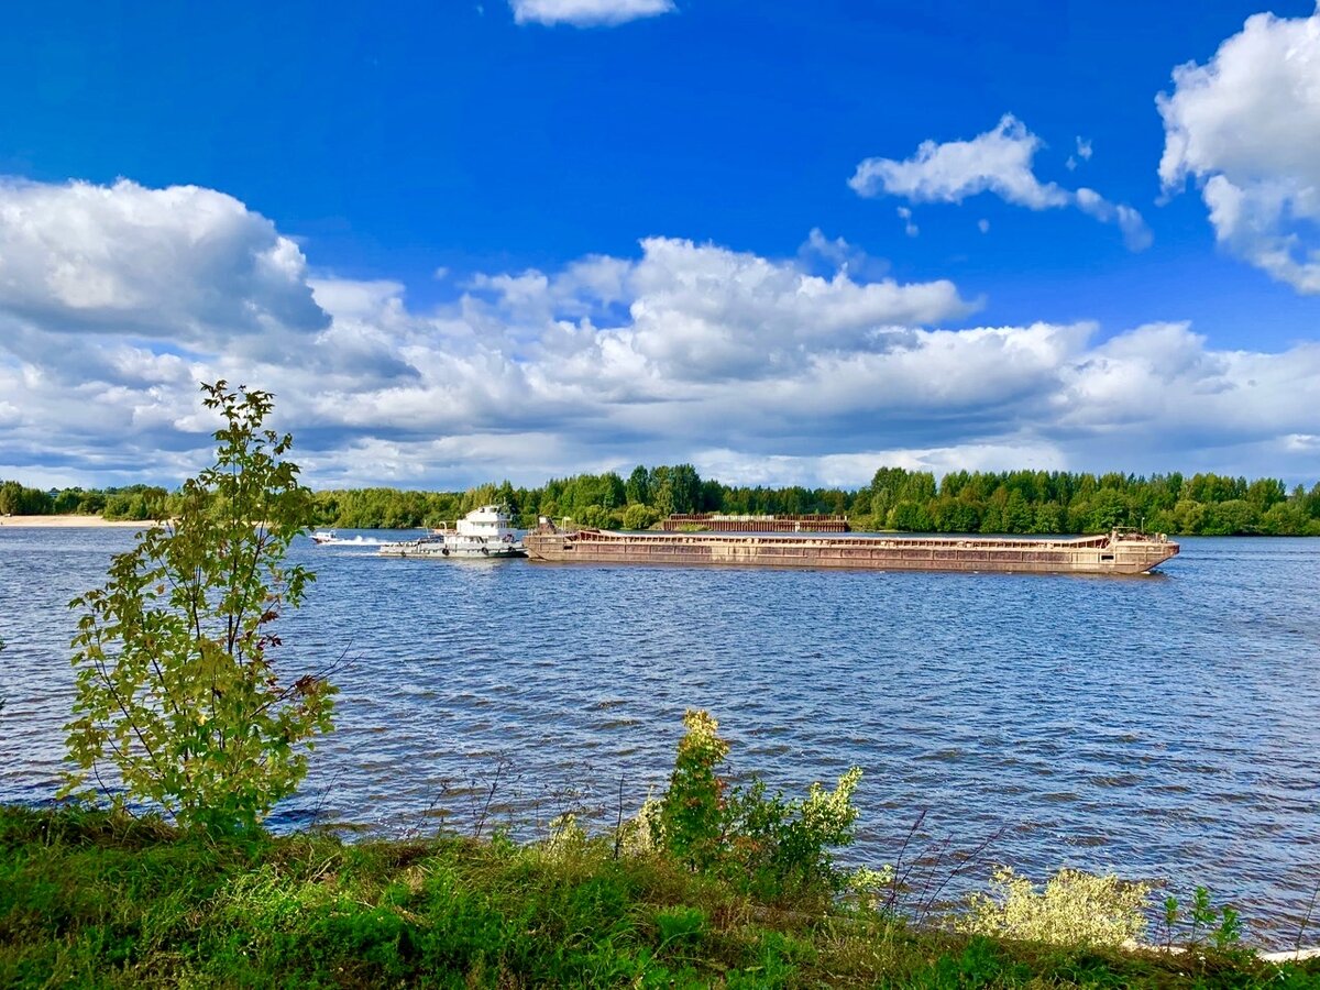
{"type": "Polygon", "coordinates": [[[1179,545],[1163,533],[1007,539],[565,531],[543,521],[523,537],[533,561],[964,570],[1006,574],[1146,574],[1179,545]]]}

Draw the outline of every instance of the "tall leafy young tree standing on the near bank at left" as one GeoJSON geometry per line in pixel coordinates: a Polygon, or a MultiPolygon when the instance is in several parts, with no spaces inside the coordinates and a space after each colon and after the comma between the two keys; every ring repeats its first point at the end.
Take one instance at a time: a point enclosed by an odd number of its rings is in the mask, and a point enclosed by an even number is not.
{"type": "Polygon", "coordinates": [[[313,576],[285,566],[306,528],[310,492],[282,459],[292,438],[263,429],[271,396],[202,385],[226,425],[216,462],[189,479],[178,516],[137,535],[104,587],[75,598],[77,675],[63,795],[147,800],[182,825],[255,826],[306,774],[306,750],[330,729],[334,688],[272,669],[272,623],[313,576]],[[90,785],[88,777],[96,781],[90,785]]]}

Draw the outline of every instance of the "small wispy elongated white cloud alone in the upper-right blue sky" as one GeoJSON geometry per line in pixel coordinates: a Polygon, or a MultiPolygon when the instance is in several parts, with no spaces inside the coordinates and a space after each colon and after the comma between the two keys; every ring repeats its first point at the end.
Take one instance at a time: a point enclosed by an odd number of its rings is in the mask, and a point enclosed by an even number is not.
{"type": "MultiPolygon", "coordinates": [[[[1150,246],[1150,230],[1133,207],[1110,203],[1090,189],[1072,191],[1036,178],[1034,160],[1043,147],[1026,124],[1005,114],[994,129],[970,141],[923,141],[911,158],[866,158],[847,183],[862,197],[898,195],[913,203],[961,203],[994,193],[1030,210],[1076,206],[1102,223],[1117,223],[1133,251],[1150,246]]],[[[1082,157],[1089,158],[1090,145],[1078,139],[1078,153],[1084,147],[1082,157]]]]}

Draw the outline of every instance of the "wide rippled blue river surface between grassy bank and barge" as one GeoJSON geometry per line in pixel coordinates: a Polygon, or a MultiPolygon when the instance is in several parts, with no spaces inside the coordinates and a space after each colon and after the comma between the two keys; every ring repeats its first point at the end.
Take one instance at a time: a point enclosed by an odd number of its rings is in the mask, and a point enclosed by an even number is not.
{"type": "MultiPolygon", "coordinates": [[[[487,817],[523,832],[573,807],[612,824],[620,792],[631,814],[664,787],[684,710],[705,708],[733,770],[788,793],[863,767],[849,861],[990,838],[978,882],[1010,863],[1168,880],[1184,900],[1205,884],[1257,940],[1291,944],[1320,884],[1320,540],[1181,543],[1159,576],[1085,578],[416,561],[300,540],[318,579],[281,620],[281,663],[343,657],[342,693],[272,824],[471,828],[492,784],[487,817]]],[[[0,525],[0,801],[57,789],[66,603],[131,544],[0,525]]]]}

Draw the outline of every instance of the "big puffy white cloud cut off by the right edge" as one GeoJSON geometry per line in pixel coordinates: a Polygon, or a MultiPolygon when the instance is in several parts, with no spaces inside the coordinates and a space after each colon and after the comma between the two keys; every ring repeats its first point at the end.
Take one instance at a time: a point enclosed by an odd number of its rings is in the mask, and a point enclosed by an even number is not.
{"type": "Polygon", "coordinates": [[[1206,65],[1175,69],[1156,104],[1166,191],[1193,178],[1221,244],[1320,293],[1320,12],[1247,18],[1206,65]]]}

